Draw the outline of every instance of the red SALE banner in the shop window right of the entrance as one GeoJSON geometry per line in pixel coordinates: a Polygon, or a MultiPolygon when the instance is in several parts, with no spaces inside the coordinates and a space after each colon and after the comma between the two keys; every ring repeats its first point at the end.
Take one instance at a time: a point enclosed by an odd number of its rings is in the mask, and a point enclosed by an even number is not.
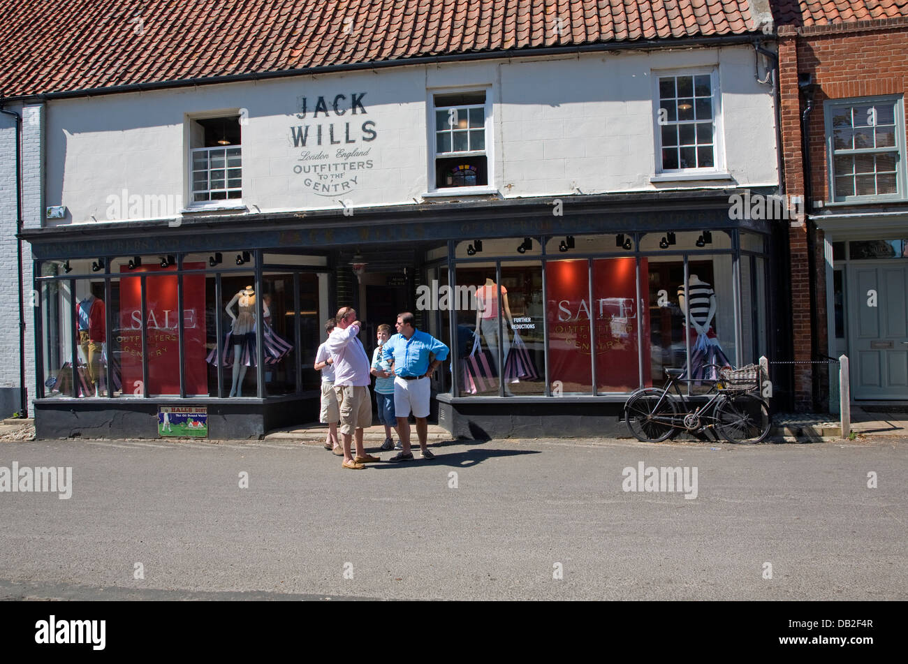
{"type": "MultiPolygon", "coordinates": [[[[646,259],[641,260],[641,271],[647,273],[646,259]]],[[[639,310],[636,260],[594,260],[592,298],[588,279],[586,259],[546,263],[548,363],[552,383],[560,381],[563,394],[588,394],[592,391],[592,319],[596,326],[598,391],[629,392],[637,389],[639,310]]],[[[645,339],[645,361],[648,353],[649,343],[645,339]]]]}

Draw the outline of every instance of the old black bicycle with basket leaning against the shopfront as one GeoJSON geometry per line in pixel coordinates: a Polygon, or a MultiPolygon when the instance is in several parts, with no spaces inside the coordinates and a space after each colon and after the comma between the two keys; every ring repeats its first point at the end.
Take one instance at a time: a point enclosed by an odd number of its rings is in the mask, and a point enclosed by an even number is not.
{"type": "Polygon", "coordinates": [[[696,379],[712,384],[706,393],[709,397],[706,404],[696,407],[679,388],[681,383],[693,382],[692,379],[681,377],[684,369],[666,368],[668,383],[664,388],[643,387],[627,398],[624,407],[627,429],[644,443],[661,443],[681,431],[699,434],[707,429],[729,443],[764,441],[772,422],[769,405],[752,394],[759,389],[759,367],[716,368],[718,379],[696,379]],[[676,395],[669,394],[673,386],[676,395]]]}

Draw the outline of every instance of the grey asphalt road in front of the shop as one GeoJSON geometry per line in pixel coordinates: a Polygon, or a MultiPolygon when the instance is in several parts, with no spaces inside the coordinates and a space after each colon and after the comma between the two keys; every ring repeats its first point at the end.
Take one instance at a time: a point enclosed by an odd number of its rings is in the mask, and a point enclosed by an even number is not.
{"type": "Polygon", "coordinates": [[[908,599],[905,438],[433,449],[0,443],[0,473],[73,468],[68,500],[0,493],[0,599],[908,599]],[[625,492],[639,462],[696,498],[625,492]]]}

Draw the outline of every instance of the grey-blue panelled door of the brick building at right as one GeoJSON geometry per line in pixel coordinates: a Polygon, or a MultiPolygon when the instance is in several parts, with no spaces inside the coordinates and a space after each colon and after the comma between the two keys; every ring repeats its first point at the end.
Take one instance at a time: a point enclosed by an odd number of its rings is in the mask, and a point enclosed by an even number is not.
{"type": "Polygon", "coordinates": [[[908,266],[901,262],[849,266],[855,399],[908,399],[908,266]]]}

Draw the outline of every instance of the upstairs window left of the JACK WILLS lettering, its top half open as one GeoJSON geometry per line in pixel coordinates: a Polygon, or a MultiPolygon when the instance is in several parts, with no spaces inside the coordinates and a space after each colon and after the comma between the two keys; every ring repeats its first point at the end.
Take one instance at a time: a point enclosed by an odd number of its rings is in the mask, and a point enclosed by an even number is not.
{"type": "Polygon", "coordinates": [[[190,121],[193,204],[242,199],[239,121],[239,115],[190,121]]]}

